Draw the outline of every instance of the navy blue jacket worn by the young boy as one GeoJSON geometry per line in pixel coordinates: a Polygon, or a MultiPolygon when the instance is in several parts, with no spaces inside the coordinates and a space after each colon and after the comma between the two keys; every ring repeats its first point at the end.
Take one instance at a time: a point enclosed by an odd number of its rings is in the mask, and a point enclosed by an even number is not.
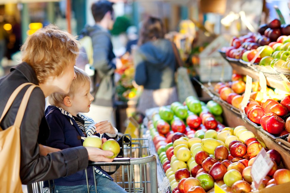
{"type": "MultiPolygon", "coordinates": [[[[77,125],[74,118],[63,114],[58,107],[48,106],[45,110],[45,118],[50,127],[50,136],[47,139],[47,146],[58,148],[58,149],[66,149],[70,147],[78,147],[82,146],[83,140],[78,139],[78,136],[84,137],[81,129],[77,125]]],[[[100,134],[96,134],[100,136],[100,134]]],[[[103,135],[106,139],[112,139],[107,136],[106,133],[103,135]]],[[[113,138],[115,139],[115,138],[113,138]]],[[[105,171],[101,168],[97,167],[103,174],[109,177],[111,180],[111,176],[109,176],[105,171]]],[[[94,171],[91,166],[87,167],[88,174],[88,182],[89,185],[94,184],[94,171]]],[[[54,179],[55,185],[59,186],[76,186],[76,185],[86,185],[86,175],[85,170],[78,171],[70,176],[61,177],[58,179],[54,179]]],[[[48,182],[45,181],[44,186],[48,186],[48,182]]]]}

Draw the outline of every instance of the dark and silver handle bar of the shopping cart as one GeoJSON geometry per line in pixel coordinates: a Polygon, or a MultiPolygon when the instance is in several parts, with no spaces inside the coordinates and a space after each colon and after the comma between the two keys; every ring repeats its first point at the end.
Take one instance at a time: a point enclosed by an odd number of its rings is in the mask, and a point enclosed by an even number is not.
{"type": "Polygon", "coordinates": [[[136,164],[144,164],[152,162],[153,160],[156,160],[155,155],[149,155],[146,157],[140,157],[140,158],[115,158],[112,162],[91,162],[89,161],[88,166],[105,166],[105,165],[136,165],[136,164]]]}

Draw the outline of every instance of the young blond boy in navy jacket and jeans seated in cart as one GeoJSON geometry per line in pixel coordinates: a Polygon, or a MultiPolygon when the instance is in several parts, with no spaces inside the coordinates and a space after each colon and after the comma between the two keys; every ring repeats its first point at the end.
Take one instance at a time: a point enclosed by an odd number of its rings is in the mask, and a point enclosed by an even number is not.
{"type": "MultiPolygon", "coordinates": [[[[66,149],[82,146],[80,137],[103,135],[106,139],[118,139],[117,129],[107,120],[95,123],[81,112],[89,112],[94,97],[90,94],[90,77],[81,69],[75,67],[77,78],[71,83],[68,94],[54,93],[49,96],[50,106],[45,111],[45,117],[50,126],[50,136],[47,146],[66,149]]],[[[73,159],[73,158],[72,158],[73,159]]],[[[95,191],[94,178],[96,177],[98,192],[125,192],[113,182],[101,168],[87,168],[90,191],[95,191]]],[[[85,170],[78,171],[70,176],[54,180],[55,192],[87,192],[85,170]]]]}

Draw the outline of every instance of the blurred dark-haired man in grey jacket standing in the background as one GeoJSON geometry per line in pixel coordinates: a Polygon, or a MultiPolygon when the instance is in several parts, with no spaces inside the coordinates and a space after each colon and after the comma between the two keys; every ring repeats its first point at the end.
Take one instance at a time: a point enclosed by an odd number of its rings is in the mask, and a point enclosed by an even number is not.
{"type": "Polygon", "coordinates": [[[109,30],[114,25],[113,3],[100,0],[93,3],[92,14],[95,25],[86,27],[83,33],[92,38],[93,44],[93,67],[95,68],[97,81],[94,83],[95,94],[90,112],[87,116],[96,122],[109,120],[115,126],[114,116],[114,71],[116,66],[122,65],[113,53],[111,34],[109,30]]]}

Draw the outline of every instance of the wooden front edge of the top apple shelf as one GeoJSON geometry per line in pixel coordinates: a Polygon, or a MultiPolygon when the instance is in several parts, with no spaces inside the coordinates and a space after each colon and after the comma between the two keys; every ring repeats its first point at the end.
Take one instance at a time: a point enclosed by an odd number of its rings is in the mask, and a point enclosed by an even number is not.
{"type": "MultiPolygon", "coordinates": [[[[259,72],[258,71],[254,71],[250,68],[247,67],[243,67],[240,65],[237,65],[233,62],[230,62],[230,65],[232,66],[233,70],[236,70],[239,74],[242,75],[249,75],[251,76],[253,79],[259,80],[259,72]]],[[[280,89],[282,91],[286,91],[285,87],[283,86],[283,79],[279,76],[279,75],[275,75],[275,74],[266,74],[264,73],[266,80],[267,80],[267,85],[271,86],[275,89],[280,89]]]]}

